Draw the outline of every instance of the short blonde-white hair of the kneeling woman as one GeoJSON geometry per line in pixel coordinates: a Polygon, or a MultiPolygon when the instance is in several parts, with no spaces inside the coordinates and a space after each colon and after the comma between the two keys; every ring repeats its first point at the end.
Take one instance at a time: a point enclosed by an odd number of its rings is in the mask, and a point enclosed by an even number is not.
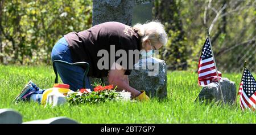
{"type": "Polygon", "coordinates": [[[146,40],[150,40],[153,46],[157,43],[162,43],[165,46],[167,43],[166,31],[164,31],[164,26],[159,21],[150,21],[144,24],[138,23],[133,28],[141,36],[141,43],[146,40]]]}

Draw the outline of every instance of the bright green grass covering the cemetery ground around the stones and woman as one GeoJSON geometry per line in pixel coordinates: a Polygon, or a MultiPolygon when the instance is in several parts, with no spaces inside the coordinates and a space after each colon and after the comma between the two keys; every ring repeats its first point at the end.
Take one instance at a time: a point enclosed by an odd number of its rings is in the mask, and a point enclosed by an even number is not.
{"type": "MultiPolygon", "coordinates": [[[[223,73],[236,83],[241,73],[223,73]]],[[[168,97],[163,101],[106,102],[102,104],[64,104],[54,108],[38,103],[12,103],[29,80],[40,88],[51,88],[55,74],[51,66],[0,65],[0,108],[13,108],[23,116],[23,122],[66,116],[79,123],[256,123],[254,112],[242,112],[239,103],[218,106],[216,103],[194,103],[201,87],[197,73],[169,71],[168,97]]]]}

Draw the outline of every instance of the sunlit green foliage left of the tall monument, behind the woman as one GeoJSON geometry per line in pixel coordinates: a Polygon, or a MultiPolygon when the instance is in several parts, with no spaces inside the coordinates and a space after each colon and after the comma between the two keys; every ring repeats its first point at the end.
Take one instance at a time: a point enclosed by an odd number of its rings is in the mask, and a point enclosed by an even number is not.
{"type": "Polygon", "coordinates": [[[4,63],[51,63],[51,50],[59,38],[92,24],[89,0],[5,0],[0,6],[4,63]]]}

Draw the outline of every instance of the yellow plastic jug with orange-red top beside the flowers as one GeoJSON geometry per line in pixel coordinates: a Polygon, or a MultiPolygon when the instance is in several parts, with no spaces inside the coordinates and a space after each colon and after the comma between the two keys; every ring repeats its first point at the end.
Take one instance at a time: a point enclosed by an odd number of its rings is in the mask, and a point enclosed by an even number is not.
{"type": "Polygon", "coordinates": [[[72,90],[69,89],[68,84],[53,84],[53,88],[49,88],[46,91],[44,91],[41,99],[41,104],[46,104],[47,96],[49,93],[52,93],[53,90],[57,90],[59,93],[63,95],[67,95],[68,92],[71,92],[72,90]]]}

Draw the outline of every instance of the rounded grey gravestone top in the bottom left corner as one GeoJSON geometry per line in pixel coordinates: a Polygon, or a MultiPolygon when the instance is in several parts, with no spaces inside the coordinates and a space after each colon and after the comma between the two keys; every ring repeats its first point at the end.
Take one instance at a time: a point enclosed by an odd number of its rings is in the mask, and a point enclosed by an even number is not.
{"type": "Polygon", "coordinates": [[[0,124],[21,124],[22,115],[13,109],[0,109],[0,124]]]}

